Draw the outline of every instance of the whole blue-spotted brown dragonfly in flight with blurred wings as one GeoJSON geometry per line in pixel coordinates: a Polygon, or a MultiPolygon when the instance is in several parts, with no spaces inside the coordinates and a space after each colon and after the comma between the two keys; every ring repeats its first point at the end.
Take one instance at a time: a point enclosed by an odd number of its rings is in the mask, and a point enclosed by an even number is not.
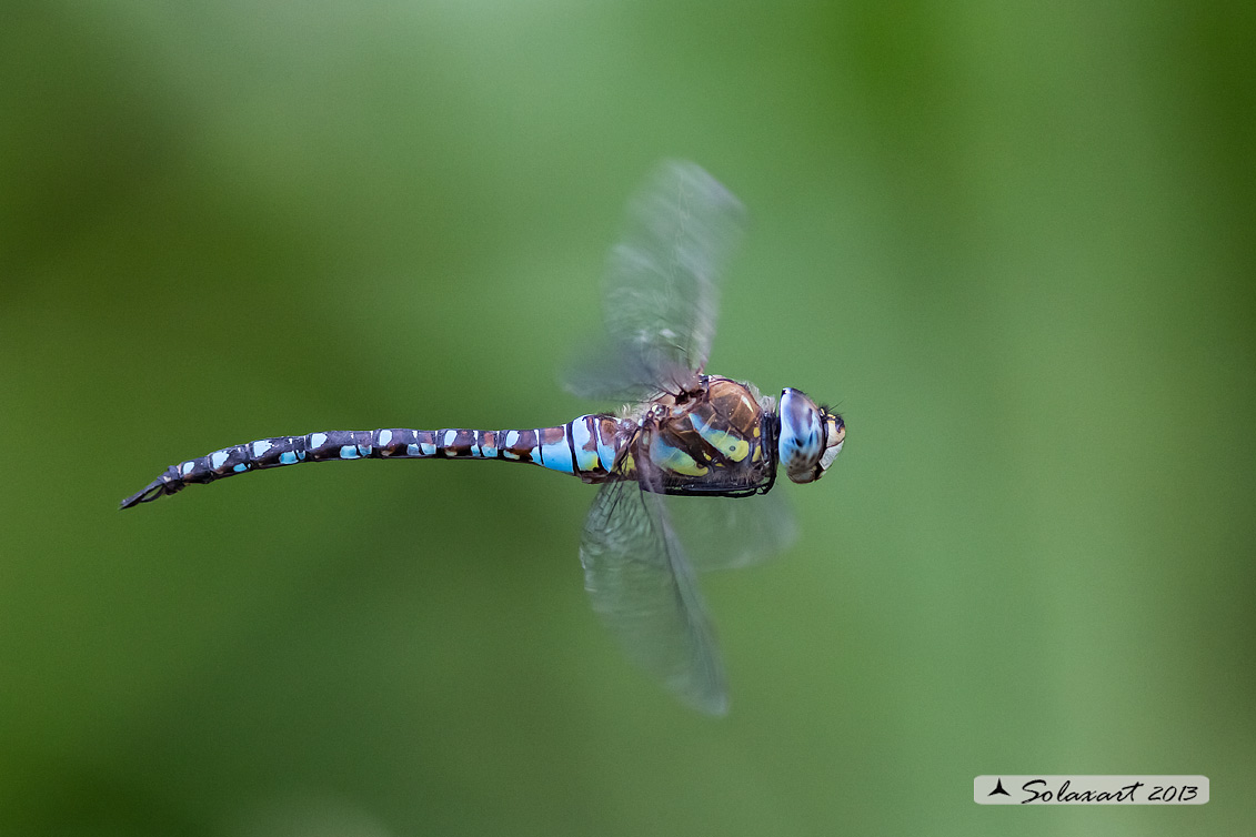
{"type": "Polygon", "coordinates": [[[728,709],[701,570],[785,548],[779,468],[819,479],[845,440],[842,415],[798,389],[780,398],[707,374],[721,275],[745,210],[696,163],[668,161],[631,201],[604,272],[603,328],[568,389],[624,404],[531,429],[325,430],[257,439],[171,466],[122,501],[304,462],[497,459],[599,486],[580,536],[593,607],[628,656],[691,706],[728,709]]]}

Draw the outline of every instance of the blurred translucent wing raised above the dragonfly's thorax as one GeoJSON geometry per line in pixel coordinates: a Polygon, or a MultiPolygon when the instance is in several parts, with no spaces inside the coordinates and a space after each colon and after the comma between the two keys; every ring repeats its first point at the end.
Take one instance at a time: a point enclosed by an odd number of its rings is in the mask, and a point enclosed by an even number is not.
{"type": "Polygon", "coordinates": [[[631,202],[603,290],[604,345],[568,375],[594,398],[674,392],[711,355],[720,276],[745,210],[700,166],[667,161],[631,202]]]}

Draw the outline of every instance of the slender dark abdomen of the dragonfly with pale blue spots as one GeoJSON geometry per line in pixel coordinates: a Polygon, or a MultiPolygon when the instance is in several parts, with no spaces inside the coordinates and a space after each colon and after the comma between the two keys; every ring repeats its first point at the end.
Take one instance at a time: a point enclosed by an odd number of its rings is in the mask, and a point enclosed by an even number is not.
{"type": "Polygon", "coordinates": [[[171,466],[143,491],[122,501],[122,508],[173,494],[192,483],[250,471],[348,459],[504,459],[538,464],[595,483],[605,481],[622,445],[619,423],[600,414],[529,430],[387,428],[280,435],[171,466]]]}

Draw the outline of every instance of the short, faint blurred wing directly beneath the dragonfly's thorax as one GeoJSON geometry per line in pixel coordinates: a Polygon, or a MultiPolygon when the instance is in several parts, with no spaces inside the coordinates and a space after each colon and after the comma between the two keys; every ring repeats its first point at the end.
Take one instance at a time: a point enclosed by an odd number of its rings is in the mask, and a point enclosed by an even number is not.
{"type": "Polygon", "coordinates": [[[782,492],[754,497],[669,496],[672,526],[703,572],[734,570],[779,555],[798,540],[782,492]]]}

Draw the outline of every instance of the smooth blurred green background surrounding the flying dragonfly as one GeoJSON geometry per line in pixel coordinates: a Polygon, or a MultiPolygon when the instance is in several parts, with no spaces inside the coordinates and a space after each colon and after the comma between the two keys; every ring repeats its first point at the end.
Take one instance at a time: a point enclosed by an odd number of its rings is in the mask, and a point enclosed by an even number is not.
{"type": "Polygon", "coordinates": [[[1252,833],[1253,9],[6,4],[0,833],[1252,833]],[[573,479],[117,511],[257,437],[587,410],[667,156],[752,215],[712,371],[849,422],[796,547],[703,580],[727,719],[597,622],[573,479]]]}

